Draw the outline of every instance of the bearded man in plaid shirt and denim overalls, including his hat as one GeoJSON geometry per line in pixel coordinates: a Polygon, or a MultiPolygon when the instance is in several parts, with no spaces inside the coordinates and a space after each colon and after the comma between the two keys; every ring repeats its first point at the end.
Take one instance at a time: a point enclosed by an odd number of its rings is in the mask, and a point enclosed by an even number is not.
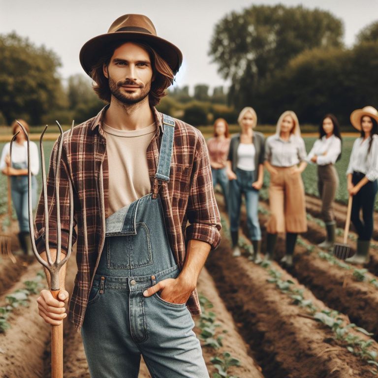
{"type": "MultiPolygon", "coordinates": [[[[110,104],[63,134],[59,167],[54,146],[48,243],[50,250],[55,247],[54,258],[61,232],[64,257],[70,180],[78,273],[69,314],[81,329],[91,377],[137,377],[141,355],[152,377],[209,377],[191,315],[200,314],[198,275],[220,243],[210,162],[198,130],[155,109],[182,54],[157,36],[150,19],[129,14],[88,41],[80,62],[97,95],[110,104]],[[60,230],[55,169],[60,170],[60,230]]],[[[35,235],[46,258],[43,201],[42,195],[35,235]]],[[[64,276],[62,269],[60,300],[48,290],[37,299],[49,324],[66,316],[64,276]]]]}

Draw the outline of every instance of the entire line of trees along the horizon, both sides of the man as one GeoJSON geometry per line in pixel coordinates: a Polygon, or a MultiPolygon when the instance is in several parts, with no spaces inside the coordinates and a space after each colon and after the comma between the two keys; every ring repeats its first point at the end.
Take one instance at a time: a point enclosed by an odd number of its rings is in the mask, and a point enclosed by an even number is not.
{"type": "MultiPolygon", "coordinates": [[[[303,6],[253,5],[225,15],[214,27],[209,55],[228,90],[197,84],[173,87],[158,109],[195,126],[223,117],[236,122],[244,106],[259,122],[275,124],[284,110],[301,123],[317,124],[334,113],[348,124],[350,112],[378,106],[378,22],[355,44],[343,42],[343,23],[333,14],[303,6]]],[[[84,74],[62,80],[60,58],[15,32],[0,35],[0,125],[24,118],[31,125],[85,121],[104,104],[84,74]]]]}

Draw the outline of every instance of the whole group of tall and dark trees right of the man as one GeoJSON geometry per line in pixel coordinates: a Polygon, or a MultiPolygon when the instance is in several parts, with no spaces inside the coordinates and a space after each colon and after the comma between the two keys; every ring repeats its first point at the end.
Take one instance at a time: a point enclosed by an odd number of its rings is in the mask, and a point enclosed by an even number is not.
{"type": "Polygon", "coordinates": [[[231,12],[215,26],[209,55],[231,80],[228,102],[253,106],[262,123],[284,110],[316,124],[334,113],[378,105],[378,22],[363,29],[351,48],[333,14],[303,6],[253,5],[231,12]]]}

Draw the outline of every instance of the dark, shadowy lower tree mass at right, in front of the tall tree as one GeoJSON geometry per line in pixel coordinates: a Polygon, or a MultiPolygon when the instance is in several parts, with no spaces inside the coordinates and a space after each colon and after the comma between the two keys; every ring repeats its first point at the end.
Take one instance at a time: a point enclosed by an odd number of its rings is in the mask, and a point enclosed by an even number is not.
{"type": "Polygon", "coordinates": [[[353,49],[313,49],[292,59],[259,92],[259,119],[275,123],[284,110],[293,110],[300,123],[317,124],[334,113],[349,125],[350,113],[378,103],[372,84],[378,66],[378,42],[353,49]]]}

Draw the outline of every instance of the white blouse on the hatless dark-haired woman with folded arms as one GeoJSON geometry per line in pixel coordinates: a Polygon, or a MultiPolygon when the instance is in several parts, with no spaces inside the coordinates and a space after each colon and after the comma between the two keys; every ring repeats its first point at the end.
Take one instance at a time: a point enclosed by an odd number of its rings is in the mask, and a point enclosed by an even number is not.
{"type": "Polygon", "coordinates": [[[329,138],[325,135],[321,139],[317,139],[314,143],[306,160],[313,164],[311,158],[316,155],[317,165],[335,164],[341,153],[341,140],[332,134],[329,138]]]}

